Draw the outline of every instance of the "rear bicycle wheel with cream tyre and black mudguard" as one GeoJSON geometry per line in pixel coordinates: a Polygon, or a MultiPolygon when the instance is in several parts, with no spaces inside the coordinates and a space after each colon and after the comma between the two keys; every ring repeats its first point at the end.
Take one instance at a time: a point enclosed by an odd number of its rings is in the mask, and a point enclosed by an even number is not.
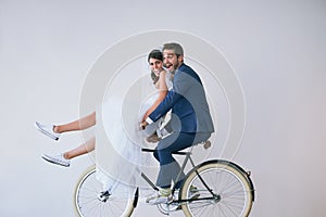
{"type": "Polygon", "coordinates": [[[247,175],[235,164],[211,161],[197,166],[181,187],[181,200],[193,197],[193,187],[200,195],[183,203],[186,216],[242,217],[248,216],[251,210],[253,187],[247,175]]]}

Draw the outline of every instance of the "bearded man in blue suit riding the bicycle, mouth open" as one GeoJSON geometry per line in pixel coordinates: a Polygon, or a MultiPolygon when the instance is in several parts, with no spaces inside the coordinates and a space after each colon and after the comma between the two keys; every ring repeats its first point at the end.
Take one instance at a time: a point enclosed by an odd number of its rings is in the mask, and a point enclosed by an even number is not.
{"type": "Polygon", "coordinates": [[[174,74],[173,89],[142,123],[142,126],[146,127],[172,110],[170,123],[172,133],[158,143],[154,152],[154,157],[160,162],[156,180],[160,191],[158,195],[147,200],[151,204],[167,202],[172,180],[176,182],[176,188],[179,188],[185,178],[185,174],[181,171],[179,180],[176,180],[180,166],[172,153],[206,141],[214,131],[202,82],[197,73],[184,63],[183,47],[175,42],[165,43],[163,62],[165,68],[174,74]]]}

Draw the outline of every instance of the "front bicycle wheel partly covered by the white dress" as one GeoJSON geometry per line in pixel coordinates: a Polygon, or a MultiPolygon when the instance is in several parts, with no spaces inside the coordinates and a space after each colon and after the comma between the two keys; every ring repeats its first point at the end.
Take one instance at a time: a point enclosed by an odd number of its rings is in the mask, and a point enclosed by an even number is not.
{"type": "Polygon", "coordinates": [[[96,179],[96,168],[90,167],[75,188],[74,205],[80,217],[130,216],[134,210],[134,199],[121,199],[110,195],[106,201],[99,200],[102,184],[96,179]]]}

